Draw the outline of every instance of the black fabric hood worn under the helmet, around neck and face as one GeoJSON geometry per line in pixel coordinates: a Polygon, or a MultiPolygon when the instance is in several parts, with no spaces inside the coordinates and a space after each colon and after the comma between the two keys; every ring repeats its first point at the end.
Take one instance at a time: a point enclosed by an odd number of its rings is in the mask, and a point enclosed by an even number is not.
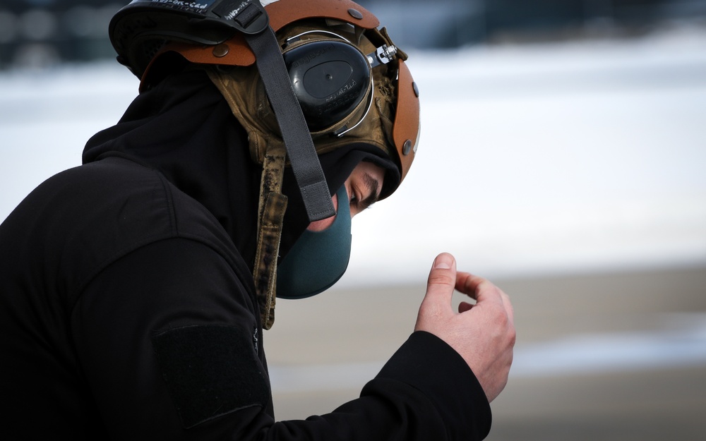
{"type": "MultiPolygon", "coordinates": [[[[361,160],[397,172],[374,150],[351,145],[319,157],[332,195],[361,160]]],[[[218,219],[252,267],[262,168],[251,160],[247,133],[205,73],[170,75],[136,97],[115,126],[88,140],[83,163],[106,156],[128,157],[162,172],[218,219]]],[[[285,170],[282,192],[289,202],[280,256],[309,224],[291,169],[285,170]]]]}

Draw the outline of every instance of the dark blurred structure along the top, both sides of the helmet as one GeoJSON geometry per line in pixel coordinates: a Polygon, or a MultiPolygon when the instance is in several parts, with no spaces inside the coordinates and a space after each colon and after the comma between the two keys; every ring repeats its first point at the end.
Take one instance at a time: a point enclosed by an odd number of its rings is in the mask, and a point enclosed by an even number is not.
{"type": "MultiPolygon", "coordinates": [[[[109,59],[110,18],[128,0],[2,0],[0,68],[109,59]]],[[[706,0],[359,0],[404,48],[636,35],[706,21],[706,0]]]]}

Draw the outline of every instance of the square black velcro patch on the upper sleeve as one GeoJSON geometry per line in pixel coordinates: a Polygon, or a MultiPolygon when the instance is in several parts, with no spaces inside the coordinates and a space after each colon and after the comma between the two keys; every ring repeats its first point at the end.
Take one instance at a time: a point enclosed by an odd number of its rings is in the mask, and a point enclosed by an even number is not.
{"type": "Polygon", "coordinates": [[[152,337],[157,361],[184,428],[270,399],[250,332],[238,327],[179,327],[152,337]]]}

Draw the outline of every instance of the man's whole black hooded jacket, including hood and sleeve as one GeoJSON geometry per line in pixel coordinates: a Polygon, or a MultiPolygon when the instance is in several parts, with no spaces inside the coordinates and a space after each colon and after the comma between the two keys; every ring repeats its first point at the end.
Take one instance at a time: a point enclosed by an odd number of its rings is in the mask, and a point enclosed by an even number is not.
{"type": "MultiPolygon", "coordinates": [[[[144,92],[0,225],[6,439],[480,440],[462,358],[415,332],[354,399],[275,422],[252,281],[260,169],[200,72],[144,92]]],[[[370,152],[321,157],[332,193],[370,152]]],[[[382,159],[381,159],[382,160],[382,159]]],[[[377,161],[377,159],[376,159],[377,161]]],[[[282,253],[306,228],[292,176],[282,253]]]]}

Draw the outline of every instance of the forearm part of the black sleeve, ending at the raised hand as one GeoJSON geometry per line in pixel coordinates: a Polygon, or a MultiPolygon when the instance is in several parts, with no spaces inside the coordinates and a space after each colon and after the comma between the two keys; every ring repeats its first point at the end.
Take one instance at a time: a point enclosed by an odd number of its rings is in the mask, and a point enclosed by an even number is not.
{"type": "MultiPolygon", "coordinates": [[[[482,440],[491,425],[485,392],[456,351],[415,332],[361,392],[323,416],[283,421],[301,440],[482,440]]],[[[271,439],[288,439],[272,437],[271,439]]]]}

